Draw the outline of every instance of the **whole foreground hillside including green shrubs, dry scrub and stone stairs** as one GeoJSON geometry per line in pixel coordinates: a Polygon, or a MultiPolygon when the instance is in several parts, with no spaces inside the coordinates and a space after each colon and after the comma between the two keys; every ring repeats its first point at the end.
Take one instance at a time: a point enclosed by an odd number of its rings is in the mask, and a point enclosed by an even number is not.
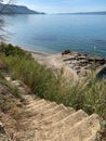
{"type": "Polygon", "coordinates": [[[82,88],[63,80],[28,51],[2,43],[0,141],[106,141],[105,81],[82,88]]]}

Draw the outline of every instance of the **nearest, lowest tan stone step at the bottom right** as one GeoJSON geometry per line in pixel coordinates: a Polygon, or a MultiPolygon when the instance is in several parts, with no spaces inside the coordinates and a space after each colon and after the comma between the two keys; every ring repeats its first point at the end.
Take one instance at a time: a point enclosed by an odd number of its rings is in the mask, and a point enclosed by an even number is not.
{"type": "Polygon", "coordinates": [[[98,116],[93,114],[77,123],[72,128],[67,129],[65,133],[58,133],[53,140],[70,141],[71,139],[71,141],[92,141],[94,137],[96,138],[97,130],[101,130],[98,116]]]}

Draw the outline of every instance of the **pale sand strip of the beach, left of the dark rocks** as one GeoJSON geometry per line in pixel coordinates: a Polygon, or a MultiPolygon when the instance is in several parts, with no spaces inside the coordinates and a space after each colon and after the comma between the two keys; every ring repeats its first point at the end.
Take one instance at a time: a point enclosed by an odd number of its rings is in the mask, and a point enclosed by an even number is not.
{"type": "Polygon", "coordinates": [[[54,72],[58,72],[63,69],[63,76],[66,78],[74,78],[78,79],[77,73],[69,67],[67,63],[65,63],[63,60],[69,57],[63,56],[62,53],[56,54],[44,54],[40,52],[34,52],[29,51],[35,59],[35,61],[39,62],[42,65],[45,65],[48,68],[52,68],[54,72]]]}

